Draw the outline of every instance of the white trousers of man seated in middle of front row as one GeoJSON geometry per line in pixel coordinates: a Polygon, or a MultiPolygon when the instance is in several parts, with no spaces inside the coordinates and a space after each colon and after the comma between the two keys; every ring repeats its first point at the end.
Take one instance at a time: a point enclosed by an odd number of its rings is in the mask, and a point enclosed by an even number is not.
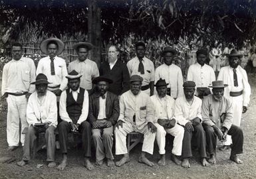
{"type": "Polygon", "coordinates": [[[148,131],[148,125],[145,125],[143,129],[138,129],[135,124],[131,124],[128,122],[122,123],[122,127],[119,126],[119,129],[116,127],[116,129],[114,130],[114,135],[116,137],[116,154],[128,153],[126,146],[126,135],[132,132],[144,134],[142,151],[153,154],[156,133],[151,133],[150,131],[148,131]]]}

